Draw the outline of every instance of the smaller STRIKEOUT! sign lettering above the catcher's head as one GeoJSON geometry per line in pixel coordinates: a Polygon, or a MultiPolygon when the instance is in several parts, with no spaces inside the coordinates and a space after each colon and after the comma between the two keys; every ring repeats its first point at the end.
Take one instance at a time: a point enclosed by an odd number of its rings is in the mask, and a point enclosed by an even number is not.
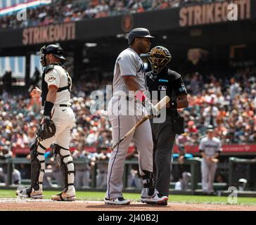
{"type": "Polygon", "coordinates": [[[28,27],[23,30],[23,45],[75,40],[75,23],[28,27]]]}

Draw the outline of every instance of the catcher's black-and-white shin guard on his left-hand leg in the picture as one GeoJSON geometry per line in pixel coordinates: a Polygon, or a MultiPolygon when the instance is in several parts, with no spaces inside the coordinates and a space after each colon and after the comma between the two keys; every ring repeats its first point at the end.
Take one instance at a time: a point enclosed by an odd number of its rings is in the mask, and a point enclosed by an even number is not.
{"type": "Polygon", "coordinates": [[[30,147],[31,158],[31,186],[34,190],[42,188],[45,169],[44,152],[46,148],[36,139],[30,147]]]}

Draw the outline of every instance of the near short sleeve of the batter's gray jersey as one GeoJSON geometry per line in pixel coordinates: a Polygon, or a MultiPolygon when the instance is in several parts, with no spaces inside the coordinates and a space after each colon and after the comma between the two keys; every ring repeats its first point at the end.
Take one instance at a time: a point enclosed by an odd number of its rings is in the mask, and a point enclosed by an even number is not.
{"type": "Polygon", "coordinates": [[[136,57],[133,55],[120,56],[117,59],[121,76],[136,76],[136,57]]]}

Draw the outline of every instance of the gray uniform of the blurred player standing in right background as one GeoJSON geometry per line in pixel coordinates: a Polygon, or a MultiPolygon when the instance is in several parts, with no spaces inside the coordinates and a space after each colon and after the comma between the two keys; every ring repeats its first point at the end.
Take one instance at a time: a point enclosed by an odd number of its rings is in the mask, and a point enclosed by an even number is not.
{"type": "MultiPolygon", "coordinates": [[[[213,157],[215,153],[222,151],[222,143],[216,137],[214,137],[212,140],[205,137],[200,141],[199,150],[203,151],[207,157],[213,157]]],[[[203,192],[213,192],[213,181],[215,179],[216,169],[216,162],[208,162],[205,158],[203,158],[201,162],[203,192]]]]}

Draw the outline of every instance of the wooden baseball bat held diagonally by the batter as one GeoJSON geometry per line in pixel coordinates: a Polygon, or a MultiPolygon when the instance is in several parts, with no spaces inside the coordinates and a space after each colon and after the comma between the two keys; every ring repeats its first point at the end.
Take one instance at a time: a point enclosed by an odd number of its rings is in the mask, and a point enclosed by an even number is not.
{"type": "MultiPolygon", "coordinates": [[[[156,110],[160,110],[161,108],[163,108],[168,102],[170,101],[169,96],[165,96],[164,98],[162,98],[162,100],[157,103],[156,105],[154,105],[156,110]]],[[[132,134],[137,127],[139,127],[141,124],[143,124],[143,122],[145,122],[146,120],[148,120],[148,118],[151,117],[150,115],[146,115],[145,117],[143,117],[139,122],[137,122],[134,127],[132,127],[132,129],[130,129],[126,134],[124,134],[124,136],[122,136],[122,138],[117,141],[117,143],[115,143],[115,145],[113,145],[110,149],[113,150],[116,146],[118,146],[122,141],[124,141],[124,139],[127,138],[127,136],[129,136],[130,134],[132,134]]]]}

